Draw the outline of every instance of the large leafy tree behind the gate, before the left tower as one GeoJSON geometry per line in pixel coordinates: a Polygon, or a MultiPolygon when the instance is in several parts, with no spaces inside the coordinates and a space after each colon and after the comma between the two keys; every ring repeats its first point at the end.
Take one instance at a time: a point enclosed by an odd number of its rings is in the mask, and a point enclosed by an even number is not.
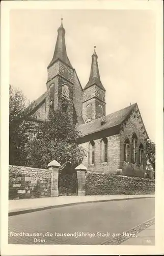
{"type": "Polygon", "coordinates": [[[67,111],[52,110],[48,120],[36,127],[36,135],[28,148],[28,165],[45,168],[55,159],[61,165],[70,162],[73,167],[77,166],[86,156],[84,148],[78,145],[79,137],[67,111]]]}

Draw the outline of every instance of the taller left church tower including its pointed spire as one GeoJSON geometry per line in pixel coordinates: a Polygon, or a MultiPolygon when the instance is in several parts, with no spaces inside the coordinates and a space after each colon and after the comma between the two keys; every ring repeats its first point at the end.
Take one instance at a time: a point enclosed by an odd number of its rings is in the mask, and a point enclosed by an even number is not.
{"type": "Polygon", "coordinates": [[[73,118],[74,70],[67,56],[63,22],[58,29],[56,47],[47,71],[46,118],[50,109],[57,110],[62,106],[67,109],[70,117],[73,118]]]}

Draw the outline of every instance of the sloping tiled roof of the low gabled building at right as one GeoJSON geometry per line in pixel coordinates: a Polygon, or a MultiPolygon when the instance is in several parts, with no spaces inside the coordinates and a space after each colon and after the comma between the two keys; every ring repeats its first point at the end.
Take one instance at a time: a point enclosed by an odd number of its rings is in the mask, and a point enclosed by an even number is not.
{"type": "Polygon", "coordinates": [[[110,127],[121,124],[127,115],[132,111],[136,103],[127,106],[126,108],[116,111],[107,116],[100,117],[91,122],[78,125],[78,130],[81,132],[81,135],[86,136],[91,133],[102,131],[110,127]],[[104,120],[104,124],[101,125],[101,122],[104,120]]]}

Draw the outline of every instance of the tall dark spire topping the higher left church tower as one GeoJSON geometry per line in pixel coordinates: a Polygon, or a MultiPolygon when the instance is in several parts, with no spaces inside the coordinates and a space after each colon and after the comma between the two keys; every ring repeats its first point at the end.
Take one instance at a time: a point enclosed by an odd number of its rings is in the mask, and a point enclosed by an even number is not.
{"type": "Polygon", "coordinates": [[[49,63],[48,67],[52,65],[54,61],[57,59],[61,59],[64,63],[66,63],[68,66],[72,67],[69,58],[67,56],[66,51],[66,43],[65,43],[65,29],[63,27],[63,18],[61,18],[61,26],[58,29],[58,37],[56,42],[56,47],[54,49],[54,54],[51,62],[49,63]]]}

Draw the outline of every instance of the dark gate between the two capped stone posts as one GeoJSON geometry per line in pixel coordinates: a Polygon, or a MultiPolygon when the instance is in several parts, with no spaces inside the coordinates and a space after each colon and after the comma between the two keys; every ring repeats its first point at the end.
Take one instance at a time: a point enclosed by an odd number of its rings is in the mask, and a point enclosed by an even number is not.
{"type": "Polygon", "coordinates": [[[78,181],[75,173],[59,176],[59,196],[77,196],[77,187],[78,181]]]}

